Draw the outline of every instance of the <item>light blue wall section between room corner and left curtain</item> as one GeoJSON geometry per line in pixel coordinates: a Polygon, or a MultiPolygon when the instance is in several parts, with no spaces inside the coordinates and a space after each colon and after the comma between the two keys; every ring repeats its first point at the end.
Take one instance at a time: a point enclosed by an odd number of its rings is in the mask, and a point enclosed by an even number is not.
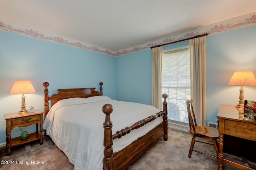
{"type": "Polygon", "coordinates": [[[151,50],[116,58],[117,99],[151,105],[151,50]]]}

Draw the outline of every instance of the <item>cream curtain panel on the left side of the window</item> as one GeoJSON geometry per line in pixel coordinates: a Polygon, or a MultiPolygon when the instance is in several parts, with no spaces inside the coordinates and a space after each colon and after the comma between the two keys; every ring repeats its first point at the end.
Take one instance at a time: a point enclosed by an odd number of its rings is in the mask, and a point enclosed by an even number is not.
{"type": "Polygon", "coordinates": [[[151,105],[162,110],[162,47],[152,48],[151,58],[151,105]]]}

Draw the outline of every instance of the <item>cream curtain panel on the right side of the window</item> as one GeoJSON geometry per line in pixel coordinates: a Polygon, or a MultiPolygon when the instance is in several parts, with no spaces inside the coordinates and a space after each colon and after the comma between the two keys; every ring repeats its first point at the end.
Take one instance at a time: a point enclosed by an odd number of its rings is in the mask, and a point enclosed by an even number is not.
{"type": "Polygon", "coordinates": [[[198,125],[206,126],[206,36],[189,40],[191,99],[198,125]]]}

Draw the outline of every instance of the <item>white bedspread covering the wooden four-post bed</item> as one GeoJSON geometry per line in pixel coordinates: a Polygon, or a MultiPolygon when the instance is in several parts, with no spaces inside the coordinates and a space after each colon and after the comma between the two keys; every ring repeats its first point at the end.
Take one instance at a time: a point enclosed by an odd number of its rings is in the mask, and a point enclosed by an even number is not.
{"type": "MultiPolygon", "coordinates": [[[[160,111],[150,105],[115,101],[106,96],[58,101],[44,120],[43,129],[47,130],[56,146],[66,154],[75,170],[102,170],[105,121],[102,106],[106,103],[114,108],[110,114],[112,134],[160,111]]],[[[113,140],[113,152],[122,150],[161,122],[162,119],[157,118],[113,140]]]]}

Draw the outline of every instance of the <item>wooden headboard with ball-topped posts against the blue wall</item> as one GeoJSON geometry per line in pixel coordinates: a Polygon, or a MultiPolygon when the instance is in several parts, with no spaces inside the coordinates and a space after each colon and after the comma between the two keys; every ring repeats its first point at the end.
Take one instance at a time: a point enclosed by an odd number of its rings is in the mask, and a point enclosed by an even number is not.
{"type": "Polygon", "coordinates": [[[50,111],[49,108],[49,100],[51,101],[51,107],[62,99],[69,99],[74,97],[92,97],[92,96],[102,96],[102,85],[103,83],[100,82],[100,93],[95,91],[95,87],[93,88],[78,88],[78,89],[58,89],[58,94],[54,94],[51,97],[48,96],[48,89],[49,86],[48,82],[44,82],[44,117],[46,117],[47,113],[50,111]]]}

